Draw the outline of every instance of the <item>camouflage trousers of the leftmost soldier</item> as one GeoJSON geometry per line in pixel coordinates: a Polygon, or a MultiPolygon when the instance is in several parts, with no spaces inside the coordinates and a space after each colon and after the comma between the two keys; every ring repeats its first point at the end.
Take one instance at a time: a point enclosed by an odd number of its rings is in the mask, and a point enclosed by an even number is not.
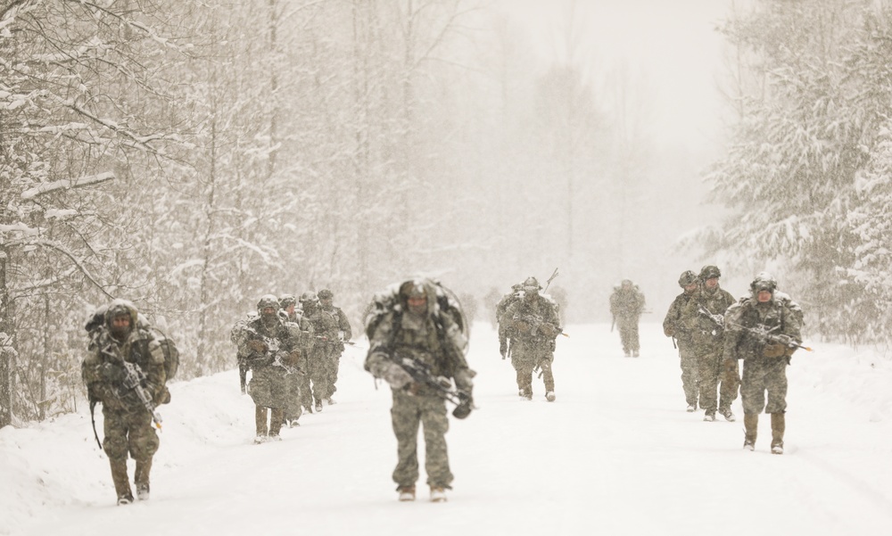
{"type": "Polygon", "coordinates": [[[103,404],[103,450],[109,459],[145,461],[153,457],[161,441],[152,426],[152,415],[142,406],[109,409],[103,404]]]}

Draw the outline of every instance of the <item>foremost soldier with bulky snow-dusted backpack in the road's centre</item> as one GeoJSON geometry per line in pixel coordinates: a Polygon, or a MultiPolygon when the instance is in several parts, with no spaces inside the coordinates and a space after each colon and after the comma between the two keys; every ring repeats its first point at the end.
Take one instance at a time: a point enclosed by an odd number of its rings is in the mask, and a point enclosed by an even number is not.
{"type": "MultiPolygon", "coordinates": [[[[429,368],[442,381],[455,381],[470,399],[474,371],[467,367],[467,339],[457,301],[449,301],[442,287],[428,279],[400,284],[390,305],[367,319],[369,340],[365,368],[390,383],[393,394],[391,418],[397,438],[397,466],[393,482],[400,500],[415,499],[418,479],[418,425],[424,426],[425,470],[431,500],[446,500],[453,475],[450,471],[445,433],[449,429],[442,396],[424,383],[417,383],[401,367],[408,360],[415,367],[429,368]],[[451,307],[444,307],[451,305],[451,307]]],[[[469,406],[470,407],[470,406],[469,406]]],[[[456,415],[453,412],[453,415],[456,415]]],[[[458,416],[458,415],[457,415],[458,416]]],[[[466,414],[467,416],[467,414],[466,414]]]]}

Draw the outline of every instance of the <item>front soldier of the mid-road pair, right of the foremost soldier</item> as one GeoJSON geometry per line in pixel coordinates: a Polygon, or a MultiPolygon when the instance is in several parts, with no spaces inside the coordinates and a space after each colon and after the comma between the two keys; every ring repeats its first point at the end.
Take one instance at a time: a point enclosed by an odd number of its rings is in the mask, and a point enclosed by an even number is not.
{"type": "Polygon", "coordinates": [[[517,394],[533,400],[533,372],[541,369],[545,400],[555,400],[555,378],[551,364],[555,359],[555,339],[561,333],[558,307],[542,296],[539,281],[527,277],[522,300],[512,303],[504,318],[511,330],[511,365],[517,373],[517,394]]]}

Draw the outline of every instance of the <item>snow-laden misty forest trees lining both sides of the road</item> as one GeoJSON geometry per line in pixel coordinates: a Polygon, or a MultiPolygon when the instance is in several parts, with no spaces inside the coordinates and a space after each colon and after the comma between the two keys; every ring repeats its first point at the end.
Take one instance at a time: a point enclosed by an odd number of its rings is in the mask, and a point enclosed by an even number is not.
{"type": "MultiPolygon", "coordinates": [[[[774,269],[853,343],[892,333],[889,15],[765,2],[723,24],[737,116],[705,179],[731,215],[681,241],[774,269]]],[[[357,325],[413,272],[483,296],[559,265],[597,303],[648,243],[681,247],[648,222],[677,188],[647,111],[617,105],[629,80],[531,70],[526,41],[467,0],[0,2],[0,426],[78,409],[112,298],[175,336],[186,379],[235,366],[263,293],[330,288],[357,325]]]]}

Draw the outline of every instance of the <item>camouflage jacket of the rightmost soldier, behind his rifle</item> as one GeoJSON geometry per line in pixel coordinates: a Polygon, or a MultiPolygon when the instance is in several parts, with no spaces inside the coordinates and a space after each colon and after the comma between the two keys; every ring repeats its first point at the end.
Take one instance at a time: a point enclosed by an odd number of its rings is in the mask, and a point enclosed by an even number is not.
{"type": "MultiPolygon", "coordinates": [[[[771,301],[759,303],[753,298],[741,298],[725,314],[724,359],[746,359],[747,361],[774,360],[764,357],[765,341],[746,328],[756,328],[776,335],[788,335],[802,342],[801,309],[789,296],[775,295],[771,301]],[[786,297],[787,300],[782,298],[786,297]],[[792,307],[791,307],[792,304],[792,307]]],[[[789,355],[792,352],[787,354],[789,355]]]]}

